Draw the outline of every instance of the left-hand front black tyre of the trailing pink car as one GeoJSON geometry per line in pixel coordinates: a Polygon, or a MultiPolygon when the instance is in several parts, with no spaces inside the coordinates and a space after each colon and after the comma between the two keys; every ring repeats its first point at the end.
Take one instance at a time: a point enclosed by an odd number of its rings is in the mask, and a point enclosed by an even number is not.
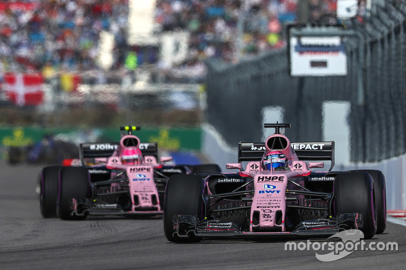
{"type": "Polygon", "coordinates": [[[72,216],[72,199],[88,198],[89,173],[85,167],[62,167],[59,173],[59,194],[56,213],[60,219],[82,220],[86,216],[72,216]]]}

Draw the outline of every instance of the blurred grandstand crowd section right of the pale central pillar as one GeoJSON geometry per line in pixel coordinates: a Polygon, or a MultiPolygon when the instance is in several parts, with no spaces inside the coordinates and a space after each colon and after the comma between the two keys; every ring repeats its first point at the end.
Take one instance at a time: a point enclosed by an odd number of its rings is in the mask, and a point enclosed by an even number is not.
{"type": "MultiPolygon", "coordinates": [[[[192,56],[233,61],[239,49],[259,54],[285,46],[283,26],[297,21],[297,6],[298,0],[158,0],[156,21],[163,31],[190,31],[192,56]]],[[[311,0],[309,9],[313,21],[334,17],[336,0],[311,0]]]]}

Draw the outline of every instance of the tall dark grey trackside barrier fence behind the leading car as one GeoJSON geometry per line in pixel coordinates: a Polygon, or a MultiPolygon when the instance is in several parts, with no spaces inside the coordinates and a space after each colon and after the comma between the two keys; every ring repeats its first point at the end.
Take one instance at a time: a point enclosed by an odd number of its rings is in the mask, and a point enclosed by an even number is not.
{"type": "Polygon", "coordinates": [[[374,2],[370,16],[352,20],[347,27],[363,37],[348,37],[344,77],[292,78],[286,49],[255,60],[224,66],[208,61],[207,121],[229,145],[260,141],[261,111],[283,106],[291,141],[322,139],[322,104],[351,102],[352,162],[377,162],[406,152],[406,1],[374,2]],[[359,102],[358,58],[364,82],[359,102]]]}

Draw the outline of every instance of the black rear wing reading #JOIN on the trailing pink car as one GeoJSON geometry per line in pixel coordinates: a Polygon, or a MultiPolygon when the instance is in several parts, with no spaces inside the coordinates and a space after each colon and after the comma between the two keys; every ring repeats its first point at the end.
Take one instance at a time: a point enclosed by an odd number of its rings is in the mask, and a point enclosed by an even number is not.
{"type": "MultiPolygon", "coordinates": [[[[79,146],[79,158],[82,164],[85,164],[85,158],[108,158],[113,155],[119,146],[119,142],[81,143],[79,146]]],[[[142,142],[139,148],[143,156],[154,156],[158,159],[157,142],[142,142]]]]}

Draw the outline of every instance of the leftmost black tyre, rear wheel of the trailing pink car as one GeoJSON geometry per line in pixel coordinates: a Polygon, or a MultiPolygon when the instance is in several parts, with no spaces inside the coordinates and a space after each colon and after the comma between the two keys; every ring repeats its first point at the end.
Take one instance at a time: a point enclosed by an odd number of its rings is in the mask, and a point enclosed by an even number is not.
{"type": "Polygon", "coordinates": [[[48,166],[42,169],[40,178],[40,210],[44,218],[56,217],[58,199],[58,179],[61,166],[48,166]]]}

